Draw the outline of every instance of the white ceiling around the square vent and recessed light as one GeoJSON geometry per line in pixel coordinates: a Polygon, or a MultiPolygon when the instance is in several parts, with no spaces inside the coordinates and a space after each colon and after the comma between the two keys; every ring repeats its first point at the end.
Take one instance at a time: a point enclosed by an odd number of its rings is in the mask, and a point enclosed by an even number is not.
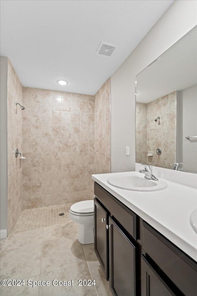
{"type": "Polygon", "coordinates": [[[24,86],[94,95],[172,2],[2,0],[1,55],[24,86]],[[97,56],[101,41],[119,47],[97,56]]]}

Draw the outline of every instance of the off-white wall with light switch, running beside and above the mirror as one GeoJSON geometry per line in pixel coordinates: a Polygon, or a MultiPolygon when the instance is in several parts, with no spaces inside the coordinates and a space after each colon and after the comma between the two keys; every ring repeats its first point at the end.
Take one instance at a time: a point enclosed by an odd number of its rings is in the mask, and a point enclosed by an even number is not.
{"type": "Polygon", "coordinates": [[[195,0],[173,2],[111,76],[111,172],[135,171],[135,76],[195,27],[196,9],[195,0]]]}

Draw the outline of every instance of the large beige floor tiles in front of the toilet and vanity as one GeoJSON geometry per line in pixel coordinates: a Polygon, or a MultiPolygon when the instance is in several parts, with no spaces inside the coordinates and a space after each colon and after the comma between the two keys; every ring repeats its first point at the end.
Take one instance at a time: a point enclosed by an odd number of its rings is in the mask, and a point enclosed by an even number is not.
{"type": "MultiPolygon", "coordinates": [[[[43,227],[42,223],[38,223],[42,227],[38,228],[34,219],[37,229],[18,230],[20,232],[15,229],[6,240],[1,241],[1,280],[24,279],[25,282],[24,286],[1,285],[1,296],[111,296],[109,283],[94,253],[94,245],[81,245],[78,242],[77,226],[68,218],[70,205],[64,206],[64,223],[60,220],[61,224],[57,224],[59,222],[54,222],[54,219],[53,224],[56,225],[43,227]],[[95,279],[95,286],[78,286],[80,279],[95,279]],[[27,286],[28,280],[50,281],[50,286],[33,288],[27,286]],[[73,280],[73,286],[53,286],[53,280],[73,280]]],[[[48,219],[46,221],[49,223],[48,219]]],[[[19,224],[18,229],[22,229],[19,224]]]]}

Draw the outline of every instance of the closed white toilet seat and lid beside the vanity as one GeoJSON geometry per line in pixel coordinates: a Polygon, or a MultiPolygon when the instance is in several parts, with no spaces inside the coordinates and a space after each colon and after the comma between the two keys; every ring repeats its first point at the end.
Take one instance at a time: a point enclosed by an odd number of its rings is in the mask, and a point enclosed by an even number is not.
{"type": "Polygon", "coordinates": [[[76,216],[94,215],[94,200],[83,200],[70,207],[70,213],[76,216]]]}

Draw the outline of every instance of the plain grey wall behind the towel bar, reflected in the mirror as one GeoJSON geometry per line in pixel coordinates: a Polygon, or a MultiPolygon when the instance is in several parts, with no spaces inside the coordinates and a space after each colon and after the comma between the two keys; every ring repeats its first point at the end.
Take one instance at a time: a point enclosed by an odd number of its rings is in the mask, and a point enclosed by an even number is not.
{"type": "Polygon", "coordinates": [[[183,89],[183,170],[197,173],[197,141],[186,136],[197,136],[197,84],[183,89]]]}

